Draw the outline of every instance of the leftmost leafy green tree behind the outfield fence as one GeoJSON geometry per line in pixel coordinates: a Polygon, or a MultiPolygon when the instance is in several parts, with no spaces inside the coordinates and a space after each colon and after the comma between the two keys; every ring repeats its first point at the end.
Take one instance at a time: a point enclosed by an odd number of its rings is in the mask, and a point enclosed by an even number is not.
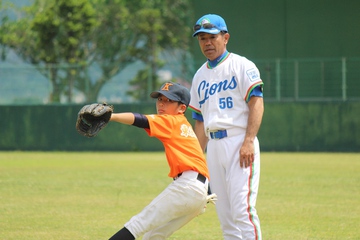
{"type": "Polygon", "coordinates": [[[36,0],[20,13],[19,19],[3,22],[1,28],[7,33],[1,43],[49,79],[50,102],[60,102],[61,94],[71,101],[78,66],[85,64],[83,40],[97,25],[95,10],[86,0],[36,0]]]}

